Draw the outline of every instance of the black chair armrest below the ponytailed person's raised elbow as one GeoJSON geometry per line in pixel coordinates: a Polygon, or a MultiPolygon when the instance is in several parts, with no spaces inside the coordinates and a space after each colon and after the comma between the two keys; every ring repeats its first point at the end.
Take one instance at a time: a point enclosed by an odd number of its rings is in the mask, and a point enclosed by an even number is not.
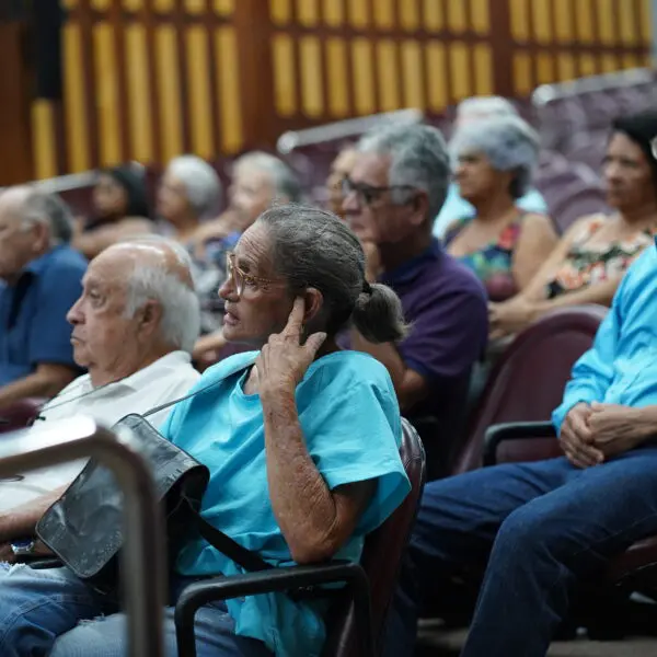
{"type": "MultiPolygon", "coordinates": [[[[312,566],[288,566],[231,577],[215,577],[189,585],[175,606],[178,657],[196,657],[194,619],[208,602],[258,593],[299,591],[323,584],[345,583],[354,599],[356,626],[361,636],[364,657],[374,657],[369,580],[362,567],[351,562],[312,566]]],[[[330,595],[330,590],[326,595],[330,595]]]]}

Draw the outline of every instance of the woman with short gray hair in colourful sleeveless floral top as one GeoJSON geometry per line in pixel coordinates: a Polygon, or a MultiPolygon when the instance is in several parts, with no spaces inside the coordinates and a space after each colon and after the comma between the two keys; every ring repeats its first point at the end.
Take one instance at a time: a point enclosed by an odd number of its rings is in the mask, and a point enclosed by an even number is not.
{"type": "Polygon", "coordinates": [[[447,229],[447,250],[473,269],[492,300],[512,297],[557,242],[549,217],[517,205],[531,183],[539,136],[519,116],[495,116],[459,128],[450,151],[460,195],[476,214],[447,229]]]}

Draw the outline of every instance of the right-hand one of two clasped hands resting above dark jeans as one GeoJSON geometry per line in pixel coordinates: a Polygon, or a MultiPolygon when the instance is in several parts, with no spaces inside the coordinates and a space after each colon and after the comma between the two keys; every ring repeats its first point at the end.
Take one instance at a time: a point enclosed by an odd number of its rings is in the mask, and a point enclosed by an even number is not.
{"type": "Polygon", "coordinates": [[[592,443],[606,458],[634,449],[646,435],[638,408],[620,404],[591,404],[588,426],[592,443]]]}

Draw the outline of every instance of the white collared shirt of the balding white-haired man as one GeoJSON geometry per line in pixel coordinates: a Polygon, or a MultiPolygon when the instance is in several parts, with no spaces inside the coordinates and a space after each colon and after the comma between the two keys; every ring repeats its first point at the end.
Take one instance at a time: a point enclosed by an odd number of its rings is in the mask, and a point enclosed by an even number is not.
{"type": "MultiPolygon", "coordinates": [[[[89,374],[78,377],[43,408],[43,422],[88,415],[105,427],[112,427],[130,413],[143,415],[151,408],[184,396],[200,374],[192,367],[186,351],[172,351],[148,367],[116,383],[99,387],[91,384],[89,374]]],[[[171,407],[154,413],[147,419],[158,428],[171,407]]],[[[30,436],[30,431],[25,433],[30,436]]],[[[42,468],[21,475],[20,481],[0,480],[0,511],[23,505],[45,493],[72,482],[84,468],[87,459],[42,468]]]]}

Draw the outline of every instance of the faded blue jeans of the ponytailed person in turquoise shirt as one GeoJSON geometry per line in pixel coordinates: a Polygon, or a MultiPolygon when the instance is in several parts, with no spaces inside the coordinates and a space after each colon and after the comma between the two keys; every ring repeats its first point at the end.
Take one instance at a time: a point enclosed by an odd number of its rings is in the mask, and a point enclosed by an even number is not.
{"type": "MultiPolygon", "coordinates": [[[[114,600],[94,592],[68,568],[33,570],[0,564],[2,657],[124,657],[126,618],[114,600]]],[[[222,603],[196,615],[199,657],[270,657],[260,641],[237,636],[222,603]]],[[[164,610],[168,657],[177,655],[173,609],[164,610]]]]}

